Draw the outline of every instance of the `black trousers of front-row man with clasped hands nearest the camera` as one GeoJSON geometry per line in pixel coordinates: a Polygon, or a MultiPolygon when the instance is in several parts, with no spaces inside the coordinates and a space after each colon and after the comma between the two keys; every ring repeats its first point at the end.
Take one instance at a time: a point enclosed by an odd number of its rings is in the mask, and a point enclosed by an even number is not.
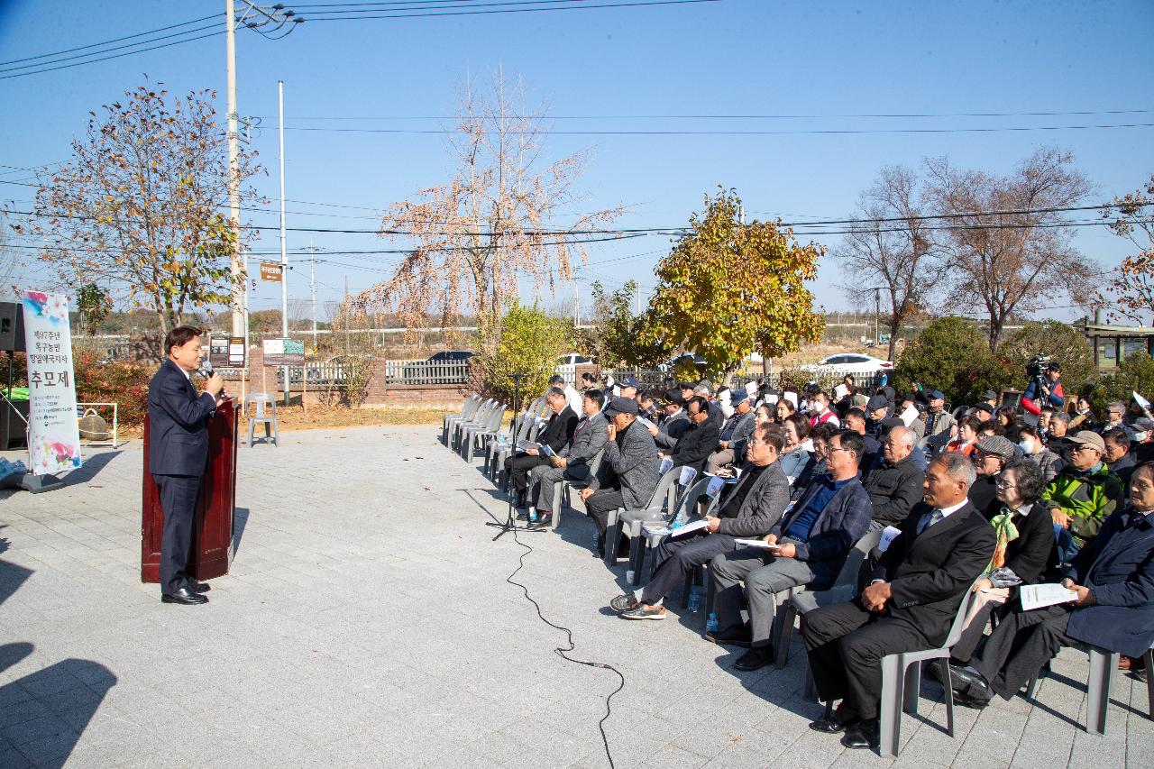
{"type": "Polygon", "coordinates": [[[803,614],[801,633],[818,699],[844,700],[846,717],[877,718],[882,657],[931,644],[909,622],[869,612],[859,600],[803,614]]]}

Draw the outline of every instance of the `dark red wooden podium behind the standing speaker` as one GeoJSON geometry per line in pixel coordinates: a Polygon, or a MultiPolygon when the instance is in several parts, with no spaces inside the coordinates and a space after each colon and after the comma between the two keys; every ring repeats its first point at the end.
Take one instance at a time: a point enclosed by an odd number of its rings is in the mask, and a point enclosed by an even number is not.
{"type": "MultiPolygon", "coordinates": [[[[237,402],[232,397],[209,418],[209,464],[193,523],[188,576],[211,580],[228,573],[232,560],[233,510],[237,506],[237,402]]],[[[148,470],[149,423],[144,418],[144,494],[141,515],[141,582],[160,581],[160,539],[164,513],[160,494],[148,470]]]]}

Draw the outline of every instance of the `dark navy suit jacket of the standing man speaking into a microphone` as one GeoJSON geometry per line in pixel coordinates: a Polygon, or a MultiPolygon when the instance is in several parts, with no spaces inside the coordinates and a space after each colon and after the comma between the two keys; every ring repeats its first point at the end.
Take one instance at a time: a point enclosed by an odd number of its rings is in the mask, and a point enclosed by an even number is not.
{"type": "Polygon", "coordinates": [[[209,461],[208,417],[216,400],[198,394],[180,366],[165,359],[148,386],[148,469],[158,476],[201,476],[209,461]]]}

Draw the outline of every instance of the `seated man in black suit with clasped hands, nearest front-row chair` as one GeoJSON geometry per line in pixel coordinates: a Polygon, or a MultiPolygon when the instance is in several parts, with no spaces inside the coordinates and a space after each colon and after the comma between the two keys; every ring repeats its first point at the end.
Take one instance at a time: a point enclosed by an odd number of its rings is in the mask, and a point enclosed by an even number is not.
{"type": "Polygon", "coordinates": [[[845,730],[846,747],[877,747],[882,657],[941,645],[994,554],[994,528],[966,499],[974,477],[960,453],[935,457],[926,470],[926,501],[902,522],[861,596],[802,618],[818,697],[827,703],[811,729],[845,730]]]}

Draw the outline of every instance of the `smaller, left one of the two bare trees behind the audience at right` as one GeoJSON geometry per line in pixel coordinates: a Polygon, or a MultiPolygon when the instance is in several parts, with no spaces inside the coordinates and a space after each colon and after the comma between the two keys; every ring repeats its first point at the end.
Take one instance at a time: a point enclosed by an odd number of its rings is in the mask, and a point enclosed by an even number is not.
{"type": "Polygon", "coordinates": [[[924,306],[935,283],[930,275],[935,262],[930,223],[923,217],[927,203],[917,174],[902,166],[882,169],[874,185],[859,197],[850,232],[833,252],[841,261],[842,286],[850,301],[874,304],[876,289],[889,294],[890,348],[901,327],[924,306]]]}

